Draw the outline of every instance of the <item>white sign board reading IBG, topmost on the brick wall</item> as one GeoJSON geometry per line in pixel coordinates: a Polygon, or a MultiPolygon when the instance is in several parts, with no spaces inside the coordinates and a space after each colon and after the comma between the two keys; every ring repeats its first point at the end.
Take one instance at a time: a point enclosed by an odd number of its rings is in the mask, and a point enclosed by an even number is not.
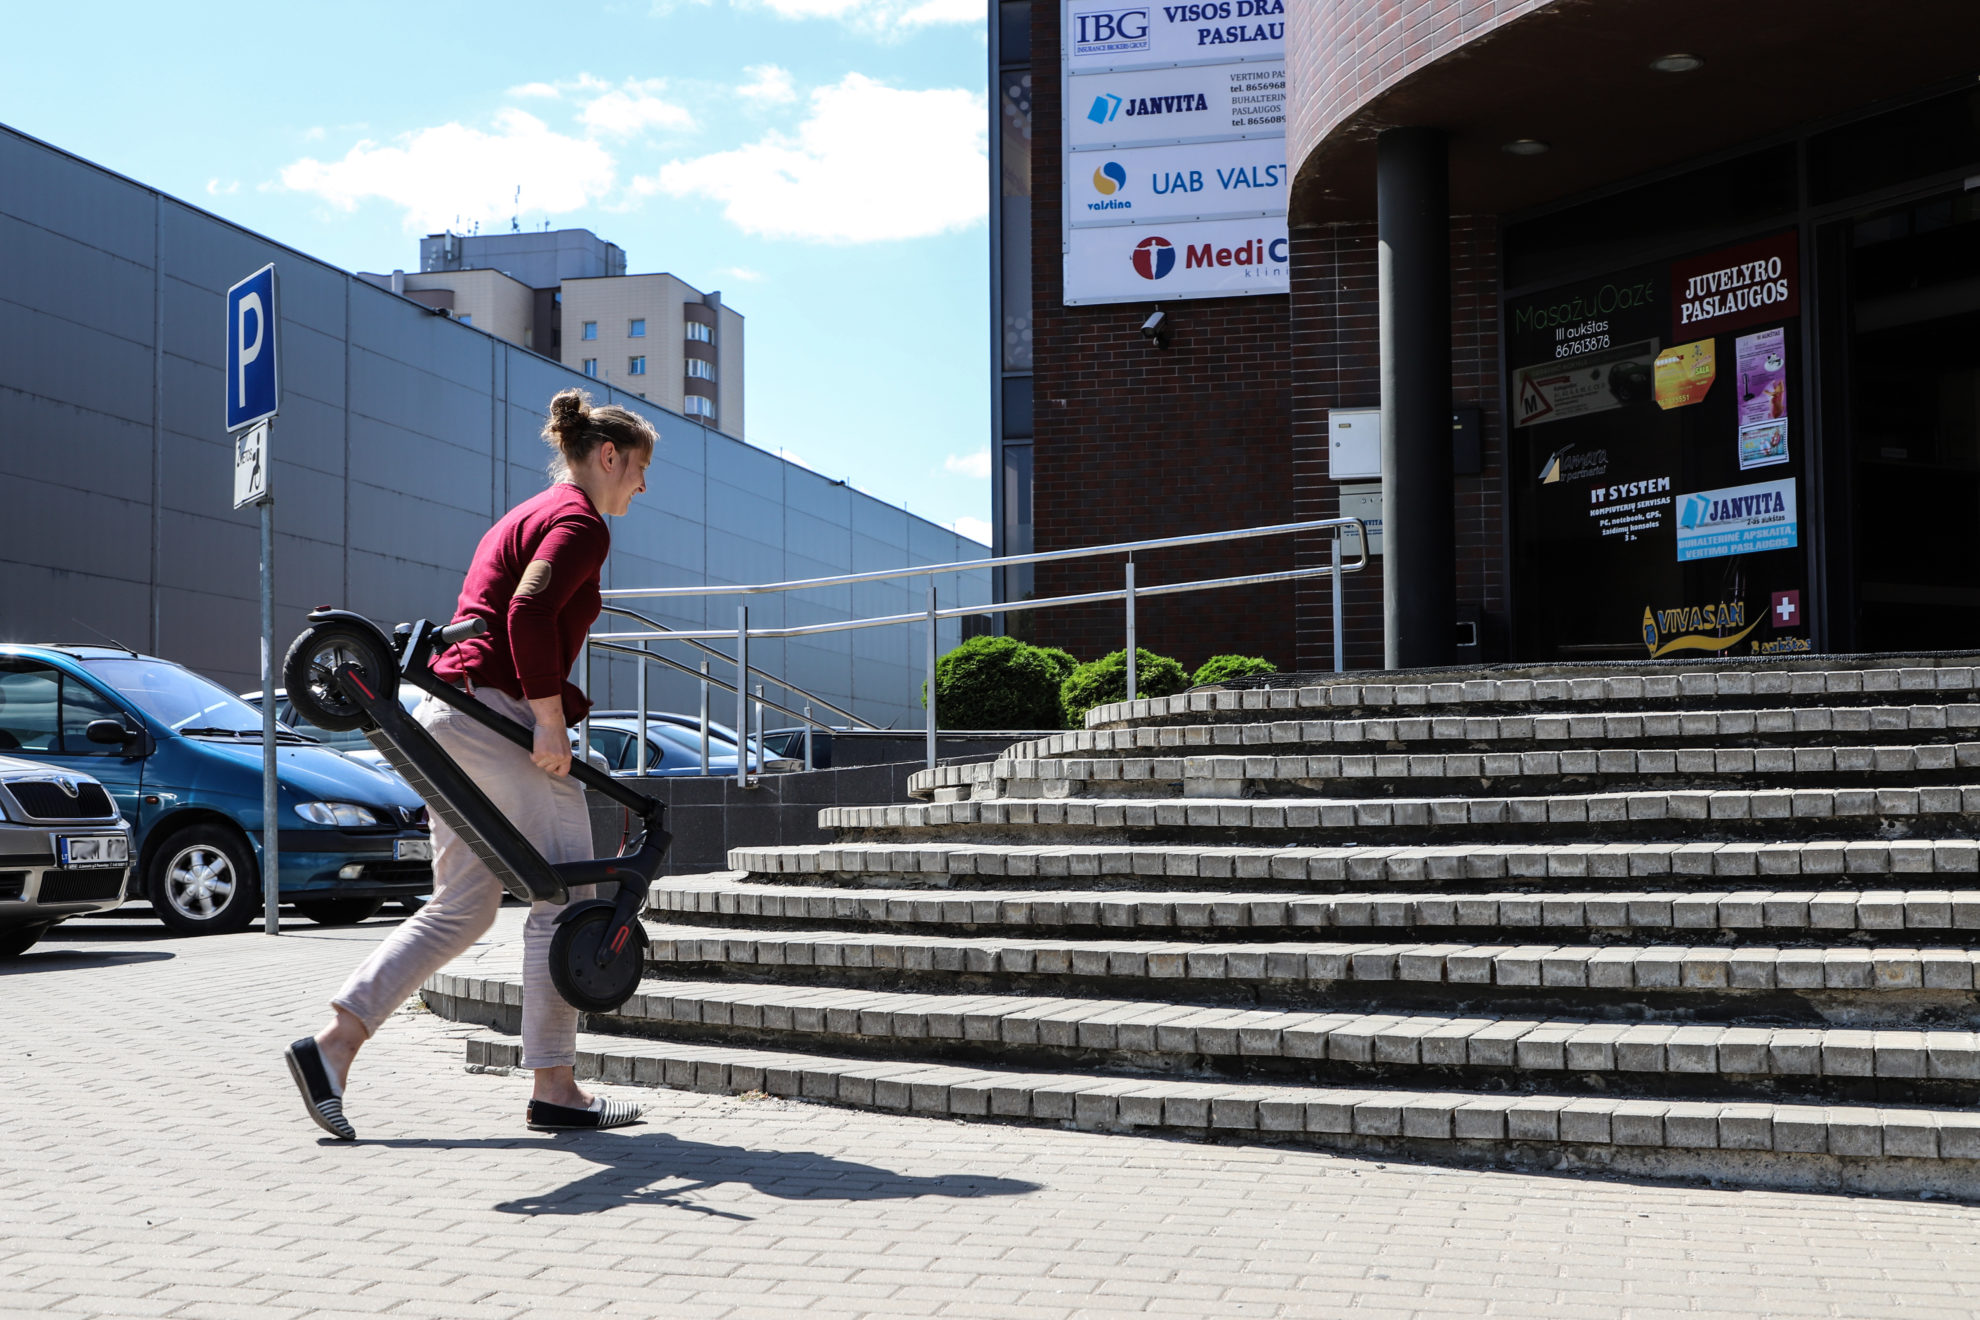
{"type": "Polygon", "coordinates": [[[1287,0],[1071,0],[1065,6],[1065,67],[1259,59],[1285,53],[1287,0]]]}

